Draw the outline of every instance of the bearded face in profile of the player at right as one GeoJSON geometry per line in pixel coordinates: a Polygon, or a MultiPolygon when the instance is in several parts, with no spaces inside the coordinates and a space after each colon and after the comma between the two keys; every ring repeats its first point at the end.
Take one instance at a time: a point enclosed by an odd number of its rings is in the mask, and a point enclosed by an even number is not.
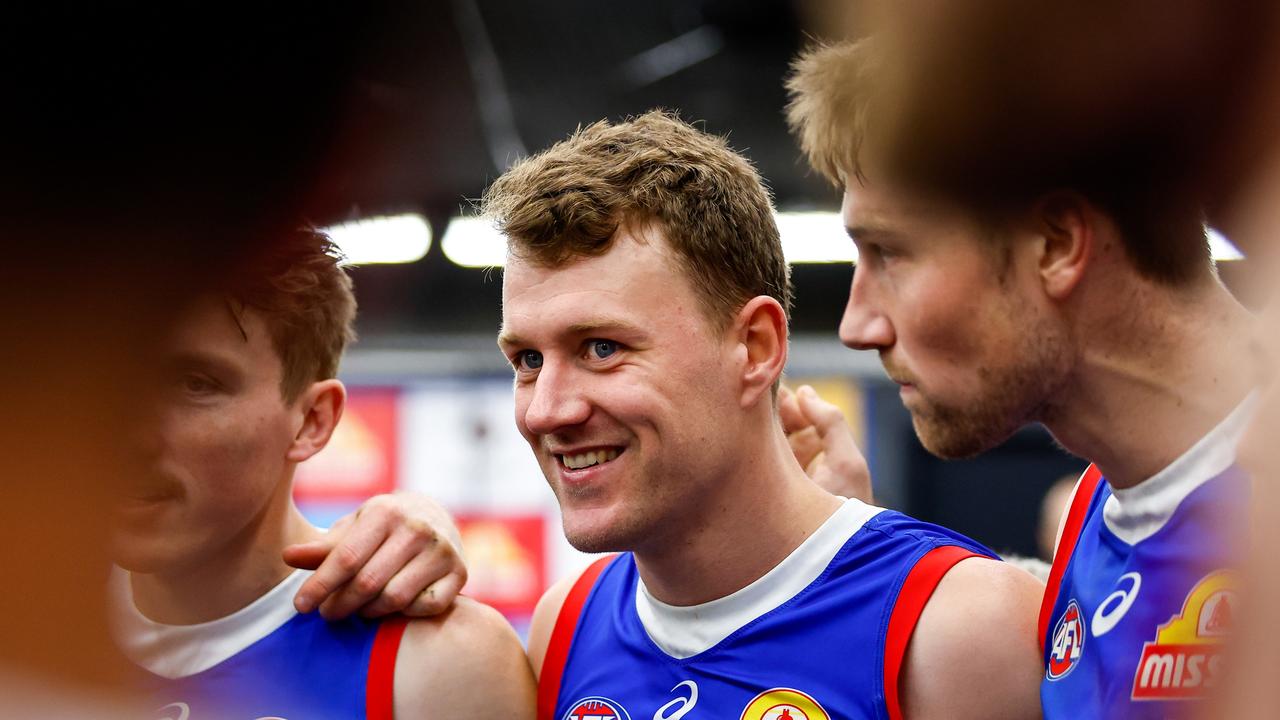
{"type": "Polygon", "coordinates": [[[860,183],[845,192],[844,219],[859,260],[841,341],[879,352],[924,447],[966,457],[1043,419],[1068,342],[1016,241],[860,183]]]}

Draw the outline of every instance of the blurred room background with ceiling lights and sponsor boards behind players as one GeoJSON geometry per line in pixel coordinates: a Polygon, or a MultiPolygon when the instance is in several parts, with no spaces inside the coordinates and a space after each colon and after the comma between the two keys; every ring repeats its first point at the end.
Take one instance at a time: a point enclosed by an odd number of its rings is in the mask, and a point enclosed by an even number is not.
{"type": "MultiPolygon", "coordinates": [[[[376,492],[413,489],[458,515],[467,593],[524,629],[547,584],[586,561],[561,536],[541,474],[515,430],[497,351],[503,241],[471,200],[512,160],[580,124],[677,109],[756,164],[774,193],[796,307],[788,382],[837,402],[859,437],[877,502],[1000,552],[1046,556],[1047,497],[1084,464],[1029,428],[972,461],[916,441],[874,354],[836,327],[856,258],[840,195],[808,169],[783,122],[782,81],[808,42],[849,27],[844,3],[404,4],[356,72],[334,160],[307,214],[351,259],[360,342],[334,442],[303,465],[297,497],[328,524],[376,492]]],[[[1238,254],[1220,236],[1229,282],[1238,254]]]]}

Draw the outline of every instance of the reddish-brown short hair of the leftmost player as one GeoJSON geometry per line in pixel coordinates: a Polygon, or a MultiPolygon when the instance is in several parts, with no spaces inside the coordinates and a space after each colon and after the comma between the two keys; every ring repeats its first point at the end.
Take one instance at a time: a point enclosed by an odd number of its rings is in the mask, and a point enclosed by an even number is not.
{"type": "Polygon", "coordinates": [[[310,228],[273,237],[251,255],[224,292],[262,316],[284,370],[280,395],[292,402],[311,383],[335,377],[356,338],[351,277],[333,241],[310,228]]]}

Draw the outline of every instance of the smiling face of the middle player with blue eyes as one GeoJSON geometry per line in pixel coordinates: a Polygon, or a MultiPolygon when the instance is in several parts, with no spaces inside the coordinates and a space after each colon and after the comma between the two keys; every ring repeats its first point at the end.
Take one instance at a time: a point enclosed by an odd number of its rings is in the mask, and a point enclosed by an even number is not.
{"type": "Polygon", "coordinates": [[[741,442],[731,343],[660,234],[623,228],[602,256],[503,273],[516,425],[589,552],[695,529],[741,442]]]}

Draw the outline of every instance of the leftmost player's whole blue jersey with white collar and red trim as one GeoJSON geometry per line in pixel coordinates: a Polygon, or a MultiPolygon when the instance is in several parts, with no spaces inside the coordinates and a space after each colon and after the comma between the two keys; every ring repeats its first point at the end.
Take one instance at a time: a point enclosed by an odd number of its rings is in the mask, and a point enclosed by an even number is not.
{"type": "Polygon", "coordinates": [[[113,577],[113,630],[141,669],[154,720],[392,719],[403,619],[328,623],[293,610],[298,570],[247,607],[200,625],[163,625],[113,577]]]}

